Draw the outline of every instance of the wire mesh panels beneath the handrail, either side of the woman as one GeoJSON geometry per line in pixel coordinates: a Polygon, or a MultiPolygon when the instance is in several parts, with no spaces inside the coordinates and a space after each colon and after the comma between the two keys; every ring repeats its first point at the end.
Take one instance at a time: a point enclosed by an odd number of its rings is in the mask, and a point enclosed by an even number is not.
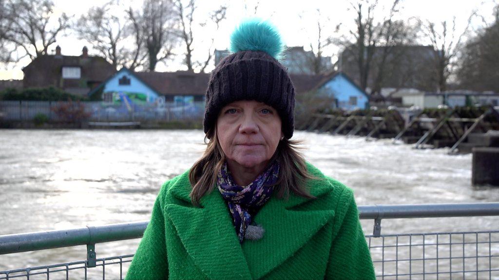
{"type": "MultiPolygon", "coordinates": [[[[499,231],[366,235],[377,279],[499,279],[499,231]]],[[[133,255],[0,271],[9,279],[124,279],[133,255]]]]}

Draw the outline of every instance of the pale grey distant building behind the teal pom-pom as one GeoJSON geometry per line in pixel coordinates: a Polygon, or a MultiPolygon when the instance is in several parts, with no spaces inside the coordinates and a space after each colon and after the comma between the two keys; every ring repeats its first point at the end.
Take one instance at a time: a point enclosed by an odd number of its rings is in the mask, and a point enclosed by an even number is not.
{"type": "MultiPolygon", "coordinates": [[[[218,65],[220,60],[231,54],[228,50],[215,50],[215,65],[218,65]]],[[[288,47],[284,51],[282,65],[287,69],[289,74],[305,74],[314,75],[313,59],[315,58],[312,51],[305,51],[302,46],[288,47]]],[[[330,56],[321,58],[320,69],[322,73],[327,73],[333,70],[333,64],[330,56]]]]}

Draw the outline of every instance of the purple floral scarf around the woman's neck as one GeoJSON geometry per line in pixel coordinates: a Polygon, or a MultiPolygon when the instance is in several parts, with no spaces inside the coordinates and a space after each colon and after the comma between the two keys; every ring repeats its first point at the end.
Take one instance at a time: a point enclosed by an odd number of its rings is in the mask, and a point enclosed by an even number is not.
{"type": "Polygon", "coordinates": [[[234,182],[231,172],[227,169],[227,162],[222,166],[218,174],[218,189],[229,204],[239,242],[243,243],[252,216],[272,195],[278,174],[279,163],[274,161],[253,182],[243,187],[234,182]]]}

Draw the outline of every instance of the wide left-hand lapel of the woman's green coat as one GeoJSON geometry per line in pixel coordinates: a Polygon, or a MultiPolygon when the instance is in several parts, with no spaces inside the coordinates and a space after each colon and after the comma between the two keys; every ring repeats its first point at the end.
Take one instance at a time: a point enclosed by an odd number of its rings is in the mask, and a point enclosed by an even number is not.
{"type": "Polygon", "coordinates": [[[171,186],[171,194],[184,203],[167,204],[165,210],[189,256],[210,279],[251,279],[221,194],[214,190],[201,199],[202,208],[193,207],[188,186],[187,176],[171,186]]]}

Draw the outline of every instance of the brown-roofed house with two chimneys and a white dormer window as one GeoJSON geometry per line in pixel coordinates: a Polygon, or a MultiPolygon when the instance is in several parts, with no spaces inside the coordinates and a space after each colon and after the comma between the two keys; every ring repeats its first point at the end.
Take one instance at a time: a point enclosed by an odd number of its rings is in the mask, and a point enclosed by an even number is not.
{"type": "Polygon", "coordinates": [[[116,69],[100,56],[89,56],[83,47],[80,56],[61,55],[61,48],[55,48],[55,55],[40,55],[22,69],[23,87],[56,87],[68,93],[86,95],[116,69]]]}

